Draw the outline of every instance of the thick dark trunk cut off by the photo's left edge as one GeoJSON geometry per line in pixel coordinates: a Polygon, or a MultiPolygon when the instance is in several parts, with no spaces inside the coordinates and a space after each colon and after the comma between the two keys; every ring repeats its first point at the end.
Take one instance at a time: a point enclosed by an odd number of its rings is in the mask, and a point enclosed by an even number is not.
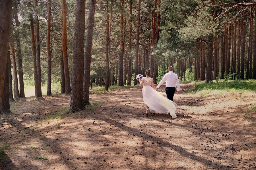
{"type": "Polygon", "coordinates": [[[3,113],[2,107],[4,82],[6,76],[6,67],[8,60],[8,46],[11,25],[12,1],[0,0],[0,114],[3,113]]]}

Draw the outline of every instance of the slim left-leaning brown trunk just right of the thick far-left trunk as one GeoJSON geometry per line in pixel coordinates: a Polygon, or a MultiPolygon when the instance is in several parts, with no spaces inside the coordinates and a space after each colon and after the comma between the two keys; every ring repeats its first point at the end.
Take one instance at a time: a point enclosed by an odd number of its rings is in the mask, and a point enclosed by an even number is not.
{"type": "Polygon", "coordinates": [[[18,76],[17,76],[17,69],[16,69],[15,52],[14,52],[14,47],[11,43],[10,43],[10,50],[11,50],[12,63],[13,63],[14,97],[17,99],[20,97],[20,94],[19,94],[19,87],[18,87],[18,76]]]}

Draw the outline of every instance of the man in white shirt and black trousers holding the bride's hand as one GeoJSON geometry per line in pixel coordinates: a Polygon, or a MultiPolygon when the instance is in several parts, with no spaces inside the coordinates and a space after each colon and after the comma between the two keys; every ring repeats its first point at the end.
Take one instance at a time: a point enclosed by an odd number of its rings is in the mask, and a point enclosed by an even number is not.
{"type": "Polygon", "coordinates": [[[173,67],[169,66],[168,68],[169,73],[166,73],[158,86],[156,86],[156,90],[166,81],[166,95],[167,98],[171,101],[173,101],[173,96],[176,91],[176,84],[177,84],[177,94],[179,94],[179,78],[178,75],[173,72],[173,67]]]}

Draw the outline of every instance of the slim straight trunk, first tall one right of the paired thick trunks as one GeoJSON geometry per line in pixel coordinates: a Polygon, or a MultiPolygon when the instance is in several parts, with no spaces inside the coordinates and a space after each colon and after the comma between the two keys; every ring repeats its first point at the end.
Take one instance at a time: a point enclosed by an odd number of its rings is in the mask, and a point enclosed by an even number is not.
{"type": "Polygon", "coordinates": [[[105,90],[108,90],[109,87],[109,56],[108,56],[108,44],[109,44],[109,14],[108,14],[108,0],[107,0],[107,18],[106,18],[106,82],[105,82],[105,90]]]}

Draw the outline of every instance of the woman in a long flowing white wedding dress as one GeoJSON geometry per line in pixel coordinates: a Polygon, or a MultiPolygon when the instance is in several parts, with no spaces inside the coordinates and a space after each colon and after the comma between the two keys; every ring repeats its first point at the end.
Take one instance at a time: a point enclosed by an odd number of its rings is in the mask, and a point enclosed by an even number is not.
{"type": "Polygon", "coordinates": [[[143,77],[140,82],[140,86],[142,88],[142,95],[144,105],[146,107],[146,115],[148,115],[148,109],[154,110],[156,112],[164,113],[170,112],[172,118],[176,118],[175,111],[177,109],[177,105],[175,102],[167,99],[160,93],[156,91],[156,88],[153,83],[153,78],[150,76],[150,70],[146,70],[146,77],[143,77]],[[151,85],[151,86],[150,86],[151,85]]]}

